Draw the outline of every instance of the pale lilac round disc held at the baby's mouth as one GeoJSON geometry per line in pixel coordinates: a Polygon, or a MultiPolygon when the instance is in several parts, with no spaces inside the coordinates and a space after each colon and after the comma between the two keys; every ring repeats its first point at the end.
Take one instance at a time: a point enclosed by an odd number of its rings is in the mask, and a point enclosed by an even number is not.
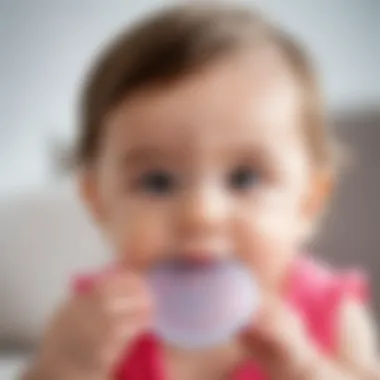
{"type": "Polygon", "coordinates": [[[156,303],[155,333],[186,348],[228,341],[259,306],[256,282],[232,260],[161,263],[149,276],[156,303]]]}

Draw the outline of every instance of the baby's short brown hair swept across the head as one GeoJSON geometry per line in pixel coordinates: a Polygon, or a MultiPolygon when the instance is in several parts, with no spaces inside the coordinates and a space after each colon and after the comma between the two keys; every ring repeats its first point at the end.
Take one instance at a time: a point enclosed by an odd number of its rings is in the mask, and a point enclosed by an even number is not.
{"type": "Polygon", "coordinates": [[[320,91],[304,50],[252,9],[220,4],[166,9],[123,31],[102,51],[84,86],[79,163],[87,166],[96,159],[105,115],[133,91],[178,80],[222,55],[260,42],[278,48],[304,86],[307,146],[314,164],[329,164],[320,91]]]}

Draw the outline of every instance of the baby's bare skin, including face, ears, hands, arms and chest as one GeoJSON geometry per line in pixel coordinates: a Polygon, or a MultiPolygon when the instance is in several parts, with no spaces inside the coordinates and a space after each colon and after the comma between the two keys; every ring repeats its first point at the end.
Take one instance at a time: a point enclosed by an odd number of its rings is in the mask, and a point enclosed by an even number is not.
{"type": "Polygon", "coordinates": [[[380,378],[360,305],[342,306],[339,352],[328,359],[280,301],[287,268],[329,188],[302,140],[302,100],[281,57],[266,49],[143,88],[107,115],[81,194],[121,269],[67,300],[24,379],[110,378],[149,325],[145,272],[175,255],[235,255],[266,297],[255,326],[227,346],[200,353],[165,347],[169,378],[222,379],[247,356],[271,379],[380,378]]]}

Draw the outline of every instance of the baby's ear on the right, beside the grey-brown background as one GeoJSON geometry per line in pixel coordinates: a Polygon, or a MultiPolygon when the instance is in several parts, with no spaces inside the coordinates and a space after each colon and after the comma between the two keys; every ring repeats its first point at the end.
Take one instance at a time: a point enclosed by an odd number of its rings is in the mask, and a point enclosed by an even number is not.
{"type": "Polygon", "coordinates": [[[334,189],[334,177],[330,170],[315,171],[310,180],[303,214],[306,219],[318,218],[324,211],[334,189]]]}

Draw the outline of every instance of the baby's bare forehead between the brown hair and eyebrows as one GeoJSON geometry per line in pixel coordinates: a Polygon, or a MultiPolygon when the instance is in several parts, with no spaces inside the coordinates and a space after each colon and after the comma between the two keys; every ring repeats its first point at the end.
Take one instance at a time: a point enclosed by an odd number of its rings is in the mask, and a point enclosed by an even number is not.
{"type": "Polygon", "coordinates": [[[170,85],[142,89],[110,115],[108,127],[129,140],[294,133],[301,119],[300,87],[264,58],[230,58],[170,85]]]}

